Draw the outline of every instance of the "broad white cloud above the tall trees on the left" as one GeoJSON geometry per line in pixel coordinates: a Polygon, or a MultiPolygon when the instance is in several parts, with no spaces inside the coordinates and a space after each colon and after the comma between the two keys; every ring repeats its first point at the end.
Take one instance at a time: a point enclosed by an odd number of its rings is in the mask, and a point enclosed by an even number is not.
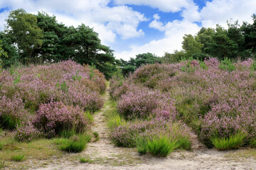
{"type": "MultiPolygon", "coordinates": [[[[102,42],[107,44],[114,42],[117,34],[123,39],[144,35],[143,30],[137,30],[140,22],[147,21],[144,14],[127,6],[109,7],[109,2],[110,0],[55,0],[50,3],[45,0],[1,0],[0,6],[8,6],[11,9],[24,8],[29,13],[54,13],[58,22],[63,22],[67,26],[85,23],[94,27],[102,42]]],[[[0,20],[1,26],[3,23],[4,21],[0,20]]]]}

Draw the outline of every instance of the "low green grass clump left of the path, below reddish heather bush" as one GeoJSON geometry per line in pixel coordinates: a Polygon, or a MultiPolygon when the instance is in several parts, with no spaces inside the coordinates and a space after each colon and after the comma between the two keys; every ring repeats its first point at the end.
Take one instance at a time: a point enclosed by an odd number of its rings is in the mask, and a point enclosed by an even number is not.
{"type": "Polygon", "coordinates": [[[56,141],[56,144],[59,145],[60,150],[65,152],[82,152],[87,142],[90,142],[91,137],[87,134],[81,134],[78,136],[70,137],[70,139],[60,138],[56,141]]]}

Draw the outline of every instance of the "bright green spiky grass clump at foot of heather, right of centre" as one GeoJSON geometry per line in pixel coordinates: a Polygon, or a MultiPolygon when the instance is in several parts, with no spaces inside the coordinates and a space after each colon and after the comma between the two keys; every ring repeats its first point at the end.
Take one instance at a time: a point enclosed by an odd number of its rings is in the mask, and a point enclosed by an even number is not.
{"type": "Polygon", "coordinates": [[[149,153],[156,157],[166,157],[177,148],[177,142],[169,140],[168,137],[155,137],[147,142],[149,153]]]}

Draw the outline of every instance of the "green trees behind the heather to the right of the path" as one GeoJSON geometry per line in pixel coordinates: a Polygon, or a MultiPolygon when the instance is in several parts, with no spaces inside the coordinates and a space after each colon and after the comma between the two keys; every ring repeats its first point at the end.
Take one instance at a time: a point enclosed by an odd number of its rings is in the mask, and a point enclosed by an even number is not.
{"type": "Polygon", "coordinates": [[[182,59],[204,60],[217,57],[218,60],[246,60],[256,56],[256,15],[252,15],[253,23],[227,21],[228,28],[220,25],[213,28],[201,28],[196,35],[184,35],[182,50],[165,53],[162,62],[174,63],[182,59]]]}

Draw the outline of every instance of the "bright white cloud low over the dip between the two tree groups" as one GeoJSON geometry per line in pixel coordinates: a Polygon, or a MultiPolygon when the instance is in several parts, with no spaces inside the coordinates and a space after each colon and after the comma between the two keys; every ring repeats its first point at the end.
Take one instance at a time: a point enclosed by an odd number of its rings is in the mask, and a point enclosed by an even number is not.
{"type": "MultiPolygon", "coordinates": [[[[156,19],[154,21],[156,21],[156,19]]],[[[156,22],[159,23],[159,26],[156,26],[156,29],[164,31],[165,38],[161,40],[152,40],[151,42],[142,46],[132,46],[131,50],[129,51],[115,52],[114,54],[117,56],[117,58],[129,60],[130,57],[135,57],[136,55],[144,52],[151,52],[157,56],[163,56],[164,52],[174,52],[174,50],[181,50],[183,35],[193,35],[200,29],[196,23],[191,23],[186,20],[175,20],[173,22],[167,23],[166,25],[160,21],[156,22]]]]}

